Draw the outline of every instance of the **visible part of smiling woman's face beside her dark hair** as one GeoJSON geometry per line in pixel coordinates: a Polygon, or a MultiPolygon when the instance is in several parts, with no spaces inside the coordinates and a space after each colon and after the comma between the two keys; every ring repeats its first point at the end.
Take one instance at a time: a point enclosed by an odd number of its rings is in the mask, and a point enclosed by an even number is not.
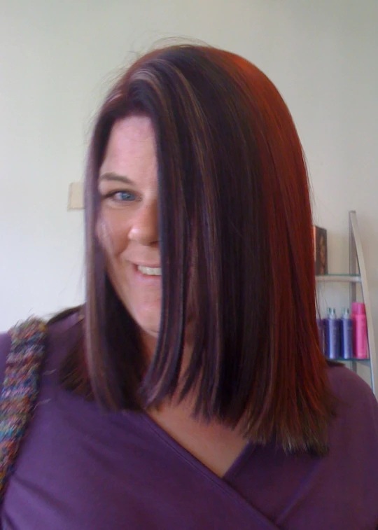
{"type": "Polygon", "coordinates": [[[120,300],[141,331],[158,336],[162,281],[158,233],[158,165],[150,118],[113,126],[99,172],[97,227],[106,267],[120,300]]]}

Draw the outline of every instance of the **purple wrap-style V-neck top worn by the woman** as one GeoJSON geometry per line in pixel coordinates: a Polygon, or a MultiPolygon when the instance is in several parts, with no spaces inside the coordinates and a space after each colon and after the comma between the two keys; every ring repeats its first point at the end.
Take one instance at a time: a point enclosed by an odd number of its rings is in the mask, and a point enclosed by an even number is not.
{"type": "MultiPolygon", "coordinates": [[[[219,478],[146,414],[104,412],[57,368],[76,316],[50,326],[36,413],[10,478],[3,530],[377,530],[378,405],[347,368],[323,458],[247,445],[219,478]]],[[[0,335],[3,375],[9,335],[0,335]]]]}

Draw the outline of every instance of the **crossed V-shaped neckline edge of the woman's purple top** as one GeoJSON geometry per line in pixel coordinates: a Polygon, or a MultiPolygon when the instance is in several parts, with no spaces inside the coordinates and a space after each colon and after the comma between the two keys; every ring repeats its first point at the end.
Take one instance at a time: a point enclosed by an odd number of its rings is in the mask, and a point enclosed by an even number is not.
{"type": "Polygon", "coordinates": [[[232,479],[235,479],[236,475],[238,475],[240,471],[244,468],[245,463],[248,461],[251,454],[255,450],[255,445],[252,442],[247,442],[243,449],[241,449],[241,452],[239,452],[235,460],[231,463],[228,470],[226,470],[225,473],[220,476],[213,470],[211,470],[200,459],[197,459],[197,457],[193,453],[188,451],[186,447],[183,447],[181,443],[175,440],[172,435],[165,431],[165,429],[162,428],[162,426],[160,426],[146,412],[141,412],[140,414],[141,418],[146,422],[146,424],[148,424],[151,430],[153,430],[161,440],[163,440],[171,449],[173,449],[176,454],[179,454],[181,458],[185,459],[191,465],[194,465],[202,473],[205,473],[212,478],[216,477],[217,480],[221,480],[222,482],[226,482],[228,484],[230,484],[230,482],[232,482],[232,479]]]}

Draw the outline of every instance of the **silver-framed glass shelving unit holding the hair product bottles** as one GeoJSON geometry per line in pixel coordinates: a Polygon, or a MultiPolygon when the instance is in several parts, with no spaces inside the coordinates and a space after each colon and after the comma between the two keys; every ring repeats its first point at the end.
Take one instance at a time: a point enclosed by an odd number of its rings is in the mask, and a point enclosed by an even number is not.
{"type": "Polygon", "coordinates": [[[370,305],[369,289],[367,287],[367,274],[365,259],[358,230],[356,211],[349,211],[349,274],[324,274],[316,276],[318,282],[343,282],[349,284],[349,302],[356,302],[357,285],[360,284],[363,302],[366,310],[367,340],[369,344],[368,359],[348,359],[343,362],[349,364],[349,368],[357,372],[358,363],[368,364],[370,367],[372,391],[375,396],[378,393],[378,362],[375,350],[374,329],[372,319],[372,306],[370,305]]]}

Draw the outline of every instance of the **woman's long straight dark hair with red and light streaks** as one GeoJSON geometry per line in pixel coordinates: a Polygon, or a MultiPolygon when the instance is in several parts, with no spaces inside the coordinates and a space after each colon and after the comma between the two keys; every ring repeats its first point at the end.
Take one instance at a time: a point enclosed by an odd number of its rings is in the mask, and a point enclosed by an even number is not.
{"type": "Polygon", "coordinates": [[[290,112],[258,68],[193,45],[137,60],[94,125],[85,225],[85,358],[67,363],[65,386],[87,384],[113,410],[172,396],[190,286],[196,342],[182,397],[195,387],[197,414],[244,421],[255,442],[325,452],[332,397],[316,328],[307,171],[290,112]],[[96,237],[109,134],[134,113],[151,118],[158,156],[162,318],[148,367],[96,237]]]}

